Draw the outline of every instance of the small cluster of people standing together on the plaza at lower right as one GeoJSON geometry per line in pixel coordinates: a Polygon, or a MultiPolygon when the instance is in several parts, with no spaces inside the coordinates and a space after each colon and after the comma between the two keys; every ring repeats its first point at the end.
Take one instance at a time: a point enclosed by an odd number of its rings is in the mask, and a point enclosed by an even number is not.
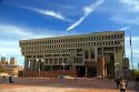
{"type": "Polygon", "coordinates": [[[126,79],[116,79],[117,88],[120,89],[120,92],[126,92],[126,88],[128,86],[128,80],[126,79]]]}

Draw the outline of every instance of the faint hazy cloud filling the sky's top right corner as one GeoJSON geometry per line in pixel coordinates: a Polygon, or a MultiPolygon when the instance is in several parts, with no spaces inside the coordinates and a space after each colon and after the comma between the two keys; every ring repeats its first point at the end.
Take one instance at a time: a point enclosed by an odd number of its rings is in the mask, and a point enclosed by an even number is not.
{"type": "Polygon", "coordinates": [[[113,13],[112,21],[139,25],[139,0],[119,0],[119,11],[113,13]]]}

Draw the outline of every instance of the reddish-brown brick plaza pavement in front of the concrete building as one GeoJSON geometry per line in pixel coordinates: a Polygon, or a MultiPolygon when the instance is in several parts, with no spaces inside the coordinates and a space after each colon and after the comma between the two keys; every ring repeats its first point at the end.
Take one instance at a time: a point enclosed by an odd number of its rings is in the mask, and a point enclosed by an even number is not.
{"type": "MultiPolygon", "coordinates": [[[[133,90],[129,81],[126,92],[133,90]]],[[[0,92],[120,92],[113,80],[102,79],[32,79],[14,78],[14,83],[0,80],[0,92]]]]}

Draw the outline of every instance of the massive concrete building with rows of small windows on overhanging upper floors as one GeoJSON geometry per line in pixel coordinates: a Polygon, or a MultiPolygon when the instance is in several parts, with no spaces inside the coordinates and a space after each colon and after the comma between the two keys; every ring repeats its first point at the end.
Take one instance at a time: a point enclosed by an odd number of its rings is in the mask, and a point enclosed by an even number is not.
{"type": "Polygon", "coordinates": [[[125,31],[20,40],[26,71],[72,70],[77,76],[122,70],[125,31]]]}

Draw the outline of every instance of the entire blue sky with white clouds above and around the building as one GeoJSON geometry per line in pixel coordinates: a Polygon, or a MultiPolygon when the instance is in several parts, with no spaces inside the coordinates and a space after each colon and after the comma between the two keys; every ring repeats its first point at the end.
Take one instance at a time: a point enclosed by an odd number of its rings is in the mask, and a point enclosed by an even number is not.
{"type": "Polygon", "coordinates": [[[126,31],[126,55],[139,62],[139,0],[0,0],[0,57],[23,63],[19,40],[126,31]]]}

